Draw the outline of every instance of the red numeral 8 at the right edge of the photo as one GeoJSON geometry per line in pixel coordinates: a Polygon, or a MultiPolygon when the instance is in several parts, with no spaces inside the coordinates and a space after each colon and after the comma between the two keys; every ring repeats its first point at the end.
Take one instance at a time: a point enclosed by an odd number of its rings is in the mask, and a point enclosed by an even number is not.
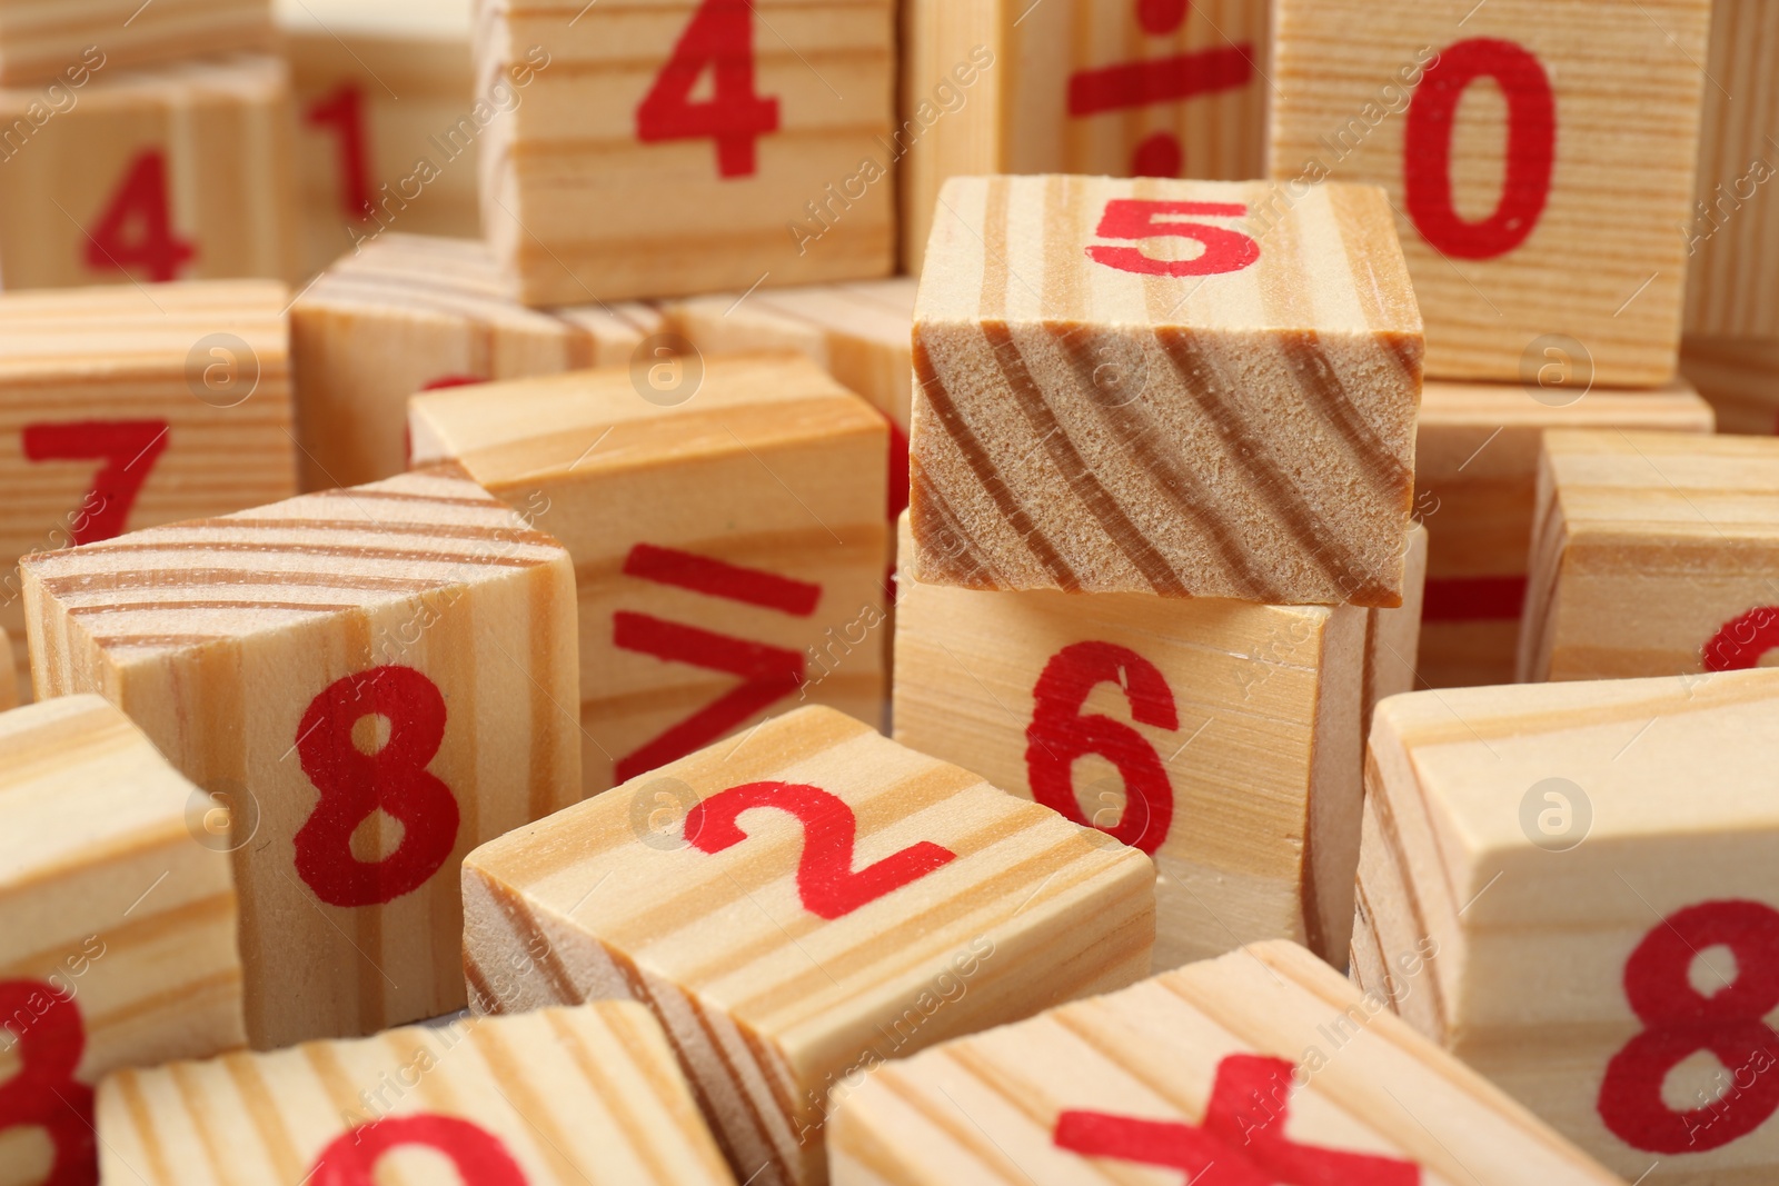
{"type": "Polygon", "coordinates": [[[1624,996],[1646,1030],[1606,1063],[1599,1118],[1626,1145],[1704,1152],[1747,1136],[1779,1111],[1779,1074],[1772,1074],[1779,1033],[1763,1021],[1779,1006],[1779,910],[1759,902],[1676,910],[1624,962],[1624,996]],[[1706,996],[1688,974],[1694,957],[1715,946],[1736,957],[1736,978],[1706,996]],[[1717,1054],[1735,1083],[1722,1099],[1674,1111],[1662,1099],[1662,1083],[1694,1051],[1717,1054]]]}

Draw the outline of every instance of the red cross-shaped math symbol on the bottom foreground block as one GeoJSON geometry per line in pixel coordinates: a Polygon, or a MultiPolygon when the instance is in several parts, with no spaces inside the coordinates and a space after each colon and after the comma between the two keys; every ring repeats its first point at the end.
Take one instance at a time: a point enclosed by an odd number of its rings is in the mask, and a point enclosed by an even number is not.
{"type": "Polygon", "coordinates": [[[1421,1168],[1411,1161],[1292,1143],[1284,1136],[1290,1081],[1292,1063],[1283,1058],[1231,1054],[1217,1067],[1203,1126],[1064,1111],[1055,1142],[1087,1158],[1165,1165],[1192,1186],[1420,1184],[1421,1168]]]}

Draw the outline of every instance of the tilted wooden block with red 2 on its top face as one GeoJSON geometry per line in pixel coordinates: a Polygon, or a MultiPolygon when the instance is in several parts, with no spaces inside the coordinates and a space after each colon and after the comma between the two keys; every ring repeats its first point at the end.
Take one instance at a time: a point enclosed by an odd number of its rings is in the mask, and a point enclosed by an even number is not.
{"type": "Polygon", "coordinates": [[[642,1001],[737,1181],[818,1186],[834,1083],[1146,976],[1153,884],[1140,853],[802,708],[470,853],[464,971],[479,1012],[642,1001]]]}

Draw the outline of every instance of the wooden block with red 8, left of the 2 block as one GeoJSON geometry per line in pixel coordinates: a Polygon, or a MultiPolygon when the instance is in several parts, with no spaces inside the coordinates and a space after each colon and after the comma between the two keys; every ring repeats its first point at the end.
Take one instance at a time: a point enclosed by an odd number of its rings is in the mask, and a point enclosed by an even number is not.
{"type": "Polygon", "coordinates": [[[407,475],[23,571],[37,695],[101,692],[244,804],[254,1047],[463,1006],[457,862],[580,798],[560,544],[407,475]]]}

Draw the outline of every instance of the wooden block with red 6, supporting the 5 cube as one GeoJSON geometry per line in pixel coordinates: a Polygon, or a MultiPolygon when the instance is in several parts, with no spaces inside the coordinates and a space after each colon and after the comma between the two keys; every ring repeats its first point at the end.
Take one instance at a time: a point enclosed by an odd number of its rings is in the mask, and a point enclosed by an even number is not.
{"type": "Polygon", "coordinates": [[[1368,619],[1400,610],[898,580],[895,740],[1147,852],[1158,969],[1345,958],[1368,619]]]}

